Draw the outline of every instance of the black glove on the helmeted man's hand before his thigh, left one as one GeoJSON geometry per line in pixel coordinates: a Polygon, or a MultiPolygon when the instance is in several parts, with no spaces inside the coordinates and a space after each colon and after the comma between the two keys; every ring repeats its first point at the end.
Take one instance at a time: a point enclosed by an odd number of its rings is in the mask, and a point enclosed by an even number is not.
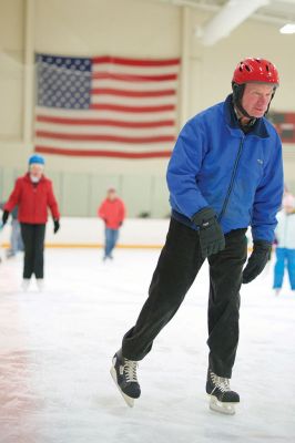
{"type": "Polygon", "coordinates": [[[203,258],[216,254],[225,247],[225,239],[216,215],[211,207],[196,213],[192,220],[200,227],[200,244],[203,258]]]}

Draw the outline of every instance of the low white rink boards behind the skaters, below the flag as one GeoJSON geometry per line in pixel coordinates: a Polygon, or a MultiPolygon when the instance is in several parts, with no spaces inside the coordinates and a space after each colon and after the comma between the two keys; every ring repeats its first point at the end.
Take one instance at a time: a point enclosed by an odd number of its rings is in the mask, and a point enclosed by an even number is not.
{"type": "MultiPolygon", "coordinates": [[[[120,229],[119,247],[161,247],[169,228],[166,219],[126,218],[120,229]]],[[[9,243],[10,223],[0,231],[0,244],[9,243]]],[[[53,235],[53,223],[47,225],[47,246],[99,247],[104,240],[104,224],[99,218],[62,217],[61,228],[53,235]]]]}

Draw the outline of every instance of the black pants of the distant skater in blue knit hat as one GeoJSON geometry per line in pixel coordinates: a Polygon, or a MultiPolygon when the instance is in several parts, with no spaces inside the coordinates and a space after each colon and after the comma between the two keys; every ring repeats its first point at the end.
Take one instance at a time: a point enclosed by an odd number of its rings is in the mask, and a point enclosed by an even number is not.
{"type": "Polygon", "coordinates": [[[24,246],[23,278],[44,277],[44,237],[45,225],[21,224],[21,236],[24,246]]]}

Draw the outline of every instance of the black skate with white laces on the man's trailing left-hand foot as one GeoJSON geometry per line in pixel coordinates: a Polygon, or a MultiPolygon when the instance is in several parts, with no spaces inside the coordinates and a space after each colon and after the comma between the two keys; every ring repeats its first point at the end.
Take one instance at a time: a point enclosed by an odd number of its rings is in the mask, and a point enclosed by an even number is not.
{"type": "Polygon", "coordinates": [[[136,377],[138,365],[136,361],[124,359],[121,350],[114,354],[112,360],[111,375],[130,408],[133,408],[134,399],[141,394],[136,377]]]}

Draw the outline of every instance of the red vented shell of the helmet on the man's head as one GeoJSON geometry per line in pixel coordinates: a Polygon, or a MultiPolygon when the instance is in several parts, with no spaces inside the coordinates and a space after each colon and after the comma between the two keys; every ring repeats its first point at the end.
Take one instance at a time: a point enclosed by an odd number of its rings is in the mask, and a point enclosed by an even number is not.
{"type": "Polygon", "coordinates": [[[278,86],[278,72],[275,65],[265,59],[245,59],[234,71],[233,83],[271,83],[278,86]]]}

